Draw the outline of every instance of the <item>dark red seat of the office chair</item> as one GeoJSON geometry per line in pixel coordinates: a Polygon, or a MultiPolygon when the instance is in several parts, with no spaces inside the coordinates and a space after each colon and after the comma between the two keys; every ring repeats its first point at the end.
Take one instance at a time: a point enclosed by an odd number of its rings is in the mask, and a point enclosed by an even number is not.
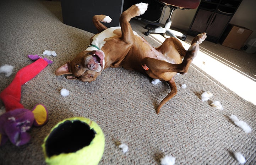
{"type": "Polygon", "coordinates": [[[185,9],[196,9],[200,0],[160,0],[160,2],[185,9]]]}

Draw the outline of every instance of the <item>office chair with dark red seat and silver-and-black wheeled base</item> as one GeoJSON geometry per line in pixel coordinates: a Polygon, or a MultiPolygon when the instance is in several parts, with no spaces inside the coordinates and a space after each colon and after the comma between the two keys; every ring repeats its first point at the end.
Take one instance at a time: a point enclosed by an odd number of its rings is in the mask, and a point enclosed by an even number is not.
{"type": "Polygon", "coordinates": [[[145,35],[149,35],[150,33],[158,33],[162,35],[169,35],[171,37],[178,37],[181,40],[185,41],[187,35],[170,29],[171,16],[173,14],[173,11],[176,9],[196,9],[200,3],[200,0],[159,0],[159,2],[163,4],[164,7],[170,7],[169,18],[166,20],[164,27],[156,26],[153,24],[147,24],[145,29],[148,29],[148,31],[145,32],[145,35]]]}

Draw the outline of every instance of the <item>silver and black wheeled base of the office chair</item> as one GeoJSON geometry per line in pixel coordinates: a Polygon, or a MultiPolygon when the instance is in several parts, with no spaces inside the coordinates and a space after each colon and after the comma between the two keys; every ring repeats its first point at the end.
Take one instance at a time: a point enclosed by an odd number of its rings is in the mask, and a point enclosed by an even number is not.
{"type": "Polygon", "coordinates": [[[153,24],[147,24],[145,29],[148,29],[148,31],[145,32],[145,35],[149,35],[150,33],[162,34],[162,35],[168,35],[170,37],[179,38],[183,41],[185,41],[187,38],[187,35],[181,32],[178,32],[172,29],[166,29],[166,28],[163,28],[162,26],[156,26],[153,24]]]}

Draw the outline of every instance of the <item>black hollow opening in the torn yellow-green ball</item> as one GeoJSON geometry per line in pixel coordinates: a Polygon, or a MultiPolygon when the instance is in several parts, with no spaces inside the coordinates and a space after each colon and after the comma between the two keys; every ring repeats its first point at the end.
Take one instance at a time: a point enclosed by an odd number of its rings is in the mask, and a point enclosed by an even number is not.
{"type": "Polygon", "coordinates": [[[80,120],[67,120],[55,128],[45,142],[48,157],[61,153],[76,152],[88,146],[96,132],[80,120]]]}

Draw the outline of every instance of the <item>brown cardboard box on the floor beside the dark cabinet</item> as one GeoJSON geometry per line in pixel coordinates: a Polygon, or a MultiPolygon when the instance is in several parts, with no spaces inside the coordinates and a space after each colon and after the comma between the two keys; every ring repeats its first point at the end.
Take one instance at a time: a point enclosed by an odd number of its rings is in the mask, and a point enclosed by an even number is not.
{"type": "Polygon", "coordinates": [[[240,50],[251,33],[252,31],[245,27],[228,24],[228,27],[220,38],[220,43],[223,46],[240,50]]]}

